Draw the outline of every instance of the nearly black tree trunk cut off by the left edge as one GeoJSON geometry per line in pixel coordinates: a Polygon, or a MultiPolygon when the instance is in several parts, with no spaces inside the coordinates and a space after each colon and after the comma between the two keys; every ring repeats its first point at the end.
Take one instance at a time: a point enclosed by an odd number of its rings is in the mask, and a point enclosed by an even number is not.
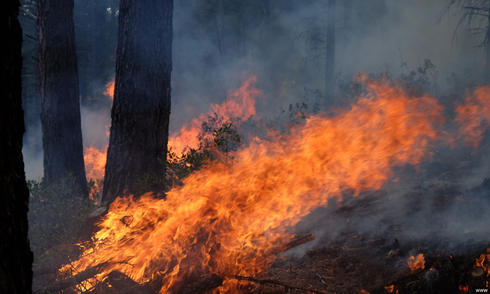
{"type": "Polygon", "coordinates": [[[1,9],[3,45],[0,56],[0,293],[31,293],[32,252],[27,239],[29,190],[25,183],[22,136],[22,28],[19,1],[6,1],[1,9]]]}

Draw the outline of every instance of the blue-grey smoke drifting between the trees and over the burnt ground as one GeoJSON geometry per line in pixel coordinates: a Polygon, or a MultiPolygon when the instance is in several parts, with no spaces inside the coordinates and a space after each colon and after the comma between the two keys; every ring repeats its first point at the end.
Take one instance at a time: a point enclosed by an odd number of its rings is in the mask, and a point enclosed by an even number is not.
{"type": "MultiPolygon", "coordinates": [[[[241,14],[225,10],[209,16],[203,2],[176,1],[174,7],[171,132],[207,113],[211,103],[224,101],[227,91],[237,89],[248,74],[257,76],[257,87],[267,97],[258,109],[262,117],[301,101],[305,87],[323,91],[324,44],[312,43],[311,38],[317,35],[308,31],[321,34],[326,7],[317,1],[274,1],[269,16],[257,10],[241,14]]],[[[349,79],[359,71],[388,71],[398,76],[415,70],[428,58],[437,66],[438,85],[447,92],[453,86],[445,83],[451,73],[466,73],[468,69],[475,69],[475,75],[479,72],[483,52],[475,46],[481,40],[461,30],[458,43],[452,42],[459,16],[437,23],[447,1],[345,2],[350,4],[338,1],[337,17],[336,72],[341,77],[349,79]],[[402,63],[406,66],[400,66],[402,63]]],[[[249,3],[241,5],[253,8],[249,3]]],[[[99,95],[103,90],[97,89],[99,95]]],[[[84,106],[81,116],[84,146],[104,147],[110,107],[104,103],[84,106]]],[[[40,140],[39,127],[29,132],[35,132],[40,140]]],[[[489,176],[489,159],[484,154],[490,150],[485,142],[480,146],[484,147],[477,155],[470,148],[439,146],[432,162],[421,164],[418,170],[400,169],[397,181],[380,191],[360,198],[346,193],[342,202],[330,201],[327,208],[314,211],[296,230],[298,234],[314,231],[323,241],[355,231],[384,234],[400,242],[488,242],[490,215],[485,207],[489,197],[475,187],[489,176]]],[[[42,152],[29,144],[23,151],[26,177],[38,180],[42,177],[42,152]]]]}

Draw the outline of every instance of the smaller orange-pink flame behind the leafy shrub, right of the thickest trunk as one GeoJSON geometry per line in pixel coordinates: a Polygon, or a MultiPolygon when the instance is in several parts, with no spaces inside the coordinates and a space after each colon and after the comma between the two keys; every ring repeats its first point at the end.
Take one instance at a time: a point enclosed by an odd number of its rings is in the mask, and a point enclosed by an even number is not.
{"type": "Polygon", "coordinates": [[[253,84],[257,77],[252,75],[236,91],[228,92],[227,99],[221,105],[211,104],[211,110],[206,114],[201,114],[199,118],[192,120],[191,123],[184,125],[178,132],[169,136],[169,148],[176,154],[181,154],[186,147],[197,149],[197,136],[201,131],[202,122],[206,122],[208,116],[217,113],[223,118],[225,123],[233,118],[241,118],[244,121],[255,115],[255,101],[263,97],[262,91],[255,88],[253,84]]]}

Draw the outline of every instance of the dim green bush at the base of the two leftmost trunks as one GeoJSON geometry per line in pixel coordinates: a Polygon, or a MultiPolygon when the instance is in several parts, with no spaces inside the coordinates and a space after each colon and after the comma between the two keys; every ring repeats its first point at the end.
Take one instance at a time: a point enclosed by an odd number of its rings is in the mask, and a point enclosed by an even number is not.
{"type": "Polygon", "coordinates": [[[29,240],[34,253],[34,268],[58,266],[61,258],[73,255],[80,224],[94,208],[93,201],[82,197],[68,174],[57,183],[43,179],[27,181],[29,188],[29,240]]]}

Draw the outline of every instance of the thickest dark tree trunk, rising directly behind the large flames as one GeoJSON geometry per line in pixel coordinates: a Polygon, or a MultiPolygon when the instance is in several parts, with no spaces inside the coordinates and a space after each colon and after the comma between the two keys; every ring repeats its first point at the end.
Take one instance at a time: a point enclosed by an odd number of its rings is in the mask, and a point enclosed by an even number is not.
{"type": "Polygon", "coordinates": [[[116,86],[102,201],[163,177],[169,136],[172,0],[121,0],[116,86]]]}

